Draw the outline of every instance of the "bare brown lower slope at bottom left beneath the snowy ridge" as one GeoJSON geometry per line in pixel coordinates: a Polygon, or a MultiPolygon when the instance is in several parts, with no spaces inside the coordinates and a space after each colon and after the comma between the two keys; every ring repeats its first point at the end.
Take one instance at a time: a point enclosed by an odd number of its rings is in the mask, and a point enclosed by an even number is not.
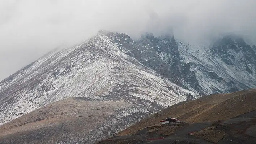
{"type": "MultiPolygon", "coordinates": [[[[3,143],[91,143],[88,136],[106,123],[125,102],[95,102],[73,97],[36,109],[0,126],[3,143]]],[[[95,139],[95,140],[93,140],[95,139]]]]}

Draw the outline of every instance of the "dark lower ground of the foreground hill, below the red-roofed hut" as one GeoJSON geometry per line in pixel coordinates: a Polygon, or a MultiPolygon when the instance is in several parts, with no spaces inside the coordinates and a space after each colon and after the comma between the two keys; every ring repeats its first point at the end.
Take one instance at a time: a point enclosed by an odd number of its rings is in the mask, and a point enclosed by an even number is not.
{"type": "Polygon", "coordinates": [[[255,144],[255,131],[256,110],[215,122],[151,126],[97,144],[255,144]]]}

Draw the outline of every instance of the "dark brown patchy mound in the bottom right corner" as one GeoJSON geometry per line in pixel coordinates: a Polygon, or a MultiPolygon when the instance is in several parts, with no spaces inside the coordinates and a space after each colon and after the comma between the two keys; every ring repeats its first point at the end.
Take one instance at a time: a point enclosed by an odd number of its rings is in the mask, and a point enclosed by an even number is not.
{"type": "Polygon", "coordinates": [[[189,135],[219,144],[255,144],[256,110],[231,119],[216,121],[212,125],[189,135]]]}

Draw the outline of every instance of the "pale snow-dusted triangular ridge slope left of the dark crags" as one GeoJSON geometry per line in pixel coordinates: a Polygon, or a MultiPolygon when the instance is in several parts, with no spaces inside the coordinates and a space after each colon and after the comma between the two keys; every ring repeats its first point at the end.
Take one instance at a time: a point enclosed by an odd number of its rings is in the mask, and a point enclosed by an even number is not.
{"type": "Polygon", "coordinates": [[[126,115],[136,111],[148,115],[184,101],[189,94],[198,95],[160,78],[123,53],[118,43],[98,34],[52,51],[0,82],[0,125],[69,97],[124,101],[140,106],[126,115]]]}

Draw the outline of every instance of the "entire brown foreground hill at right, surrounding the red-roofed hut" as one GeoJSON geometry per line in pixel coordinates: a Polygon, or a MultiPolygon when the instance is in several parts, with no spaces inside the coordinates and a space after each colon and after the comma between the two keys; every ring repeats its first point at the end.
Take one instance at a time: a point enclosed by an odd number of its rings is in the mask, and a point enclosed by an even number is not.
{"type": "Polygon", "coordinates": [[[255,144],[255,104],[254,89],[180,102],[97,144],[255,144]],[[159,125],[166,117],[183,122],[159,125]]]}

